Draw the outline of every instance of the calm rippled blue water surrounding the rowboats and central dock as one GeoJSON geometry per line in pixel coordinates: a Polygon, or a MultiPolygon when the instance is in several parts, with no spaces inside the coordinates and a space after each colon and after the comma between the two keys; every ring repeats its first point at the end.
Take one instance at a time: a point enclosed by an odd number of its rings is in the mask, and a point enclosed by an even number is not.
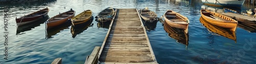
{"type": "MultiPolygon", "coordinates": [[[[95,46],[101,46],[107,26],[98,24],[95,20],[87,23],[82,28],[75,30],[72,35],[71,26],[61,26],[54,30],[46,30],[44,21],[41,23],[16,28],[15,17],[29,14],[38,9],[48,7],[49,17],[53,17],[59,12],[69,9],[76,11],[76,14],[83,10],[90,9],[94,16],[106,7],[114,8],[150,8],[155,11],[158,17],[168,9],[179,12],[187,16],[190,20],[188,36],[189,45],[186,46],[177,42],[176,39],[168,36],[164,30],[164,25],[160,22],[147,24],[148,37],[158,63],[255,63],[256,62],[256,33],[255,28],[240,25],[236,31],[237,43],[230,38],[217,33],[210,32],[203,26],[199,18],[201,8],[212,8],[202,6],[200,0],[195,1],[165,1],[165,0],[127,0],[127,1],[101,1],[101,0],[57,0],[45,1],[43,3],[24,3],[24,4],[1,4],[1,16],[3,17],[3,7],[9,6],[8,15],[8,60],[4,58],[4,45],[1,47],[1,64],[25,64],[25,63],[51,63],[55,58],[61,57],[62,63],[82,64],[86,57],[91,54],[95,46]],[[105,27],[105,28],[102,28],[105,27]],[[242,29],[243,28],[243,29],[242,29]],[[254,31],[253,31],[254,30],[254,31]]],[[[243,6],[241,10],[253,7],[243,6]]],[[[232,8],[234,9],[234,8],[232,8]]],[[[3,21],[3,18],[1,20],[3,21]]],[[[104,24],[103,24],[104,25],[104,24]]],[[[107,24],[105,24],[107,25],[107,24]]],[[[4,42],[4,23],[0,25],[1,39],[4,42]]]]}

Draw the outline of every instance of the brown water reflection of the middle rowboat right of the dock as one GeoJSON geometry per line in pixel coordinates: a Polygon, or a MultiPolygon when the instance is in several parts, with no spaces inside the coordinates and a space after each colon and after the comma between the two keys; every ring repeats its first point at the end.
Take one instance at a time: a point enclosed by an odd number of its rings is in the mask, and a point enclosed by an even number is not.
{"type": "Polygon", "coordinates": [[[164,30],[166,31],[166,33],[168,33],[170,37],[176,39],[177,42],[180,42],[181,44],[186,45],[186,49],[187,49],[188,39],[189,39],[188,33],[186,33],[183,29],[169,26],[167,23],[164,23],[163,26],[164,26],[164,30]]]}

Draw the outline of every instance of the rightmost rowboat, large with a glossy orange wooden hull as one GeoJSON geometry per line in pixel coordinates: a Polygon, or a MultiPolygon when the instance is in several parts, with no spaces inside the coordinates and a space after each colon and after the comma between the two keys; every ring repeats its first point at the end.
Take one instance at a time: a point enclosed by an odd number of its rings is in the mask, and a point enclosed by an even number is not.
{"type": "Polygon", "coordinates": [[[216,25],[218,27],[230,28],[233,31],[236,31],[238,21],[234,20],[225,15],[221,15],[219,13],[211,12],[209,10],[201,10],[202,17],[212,25],[216,25]]]}

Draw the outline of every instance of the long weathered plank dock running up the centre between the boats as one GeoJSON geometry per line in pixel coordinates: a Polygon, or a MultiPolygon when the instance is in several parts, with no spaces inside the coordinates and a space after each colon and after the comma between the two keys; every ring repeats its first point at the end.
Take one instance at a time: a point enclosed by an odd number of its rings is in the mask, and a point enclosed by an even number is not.
{"type": "Polygon", "coordinates": [[[118,9],[99,51],[101,63],[157,63],[137,9],[118,9]]]}

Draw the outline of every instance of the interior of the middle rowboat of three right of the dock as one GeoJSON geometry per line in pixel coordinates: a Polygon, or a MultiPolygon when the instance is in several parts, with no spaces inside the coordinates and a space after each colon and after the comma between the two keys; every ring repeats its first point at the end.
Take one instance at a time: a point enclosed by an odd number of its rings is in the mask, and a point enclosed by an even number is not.
{"type": "Polygon", "coordinates": [[[180,14],[176,14],[173,11],[167,11],[165,13],[165,17],[173,22],[187,22],[187,20],[183,18],[180,14]]]}

